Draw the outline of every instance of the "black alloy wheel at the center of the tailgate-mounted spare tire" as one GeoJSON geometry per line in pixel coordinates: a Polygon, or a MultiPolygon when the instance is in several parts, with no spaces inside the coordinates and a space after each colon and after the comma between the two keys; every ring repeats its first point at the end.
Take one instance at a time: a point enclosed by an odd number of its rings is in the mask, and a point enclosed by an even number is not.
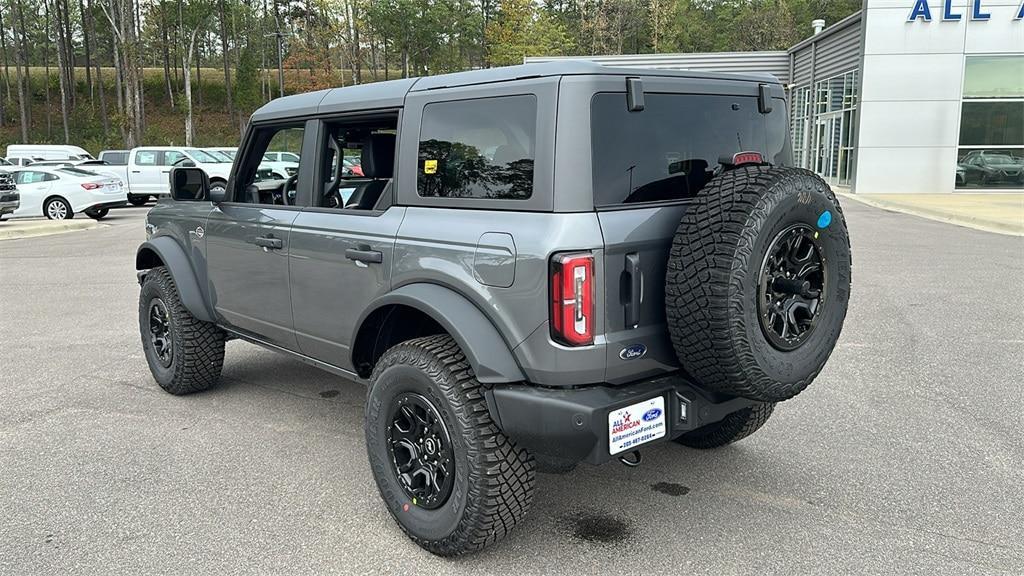
{"type": "Polygon", "coordinates": [[[797,349],[810,336],[824,308],[827,278],[818,232],[795,224],[778,233],[759,275],[761,330],[777,349],[797,349]]]}

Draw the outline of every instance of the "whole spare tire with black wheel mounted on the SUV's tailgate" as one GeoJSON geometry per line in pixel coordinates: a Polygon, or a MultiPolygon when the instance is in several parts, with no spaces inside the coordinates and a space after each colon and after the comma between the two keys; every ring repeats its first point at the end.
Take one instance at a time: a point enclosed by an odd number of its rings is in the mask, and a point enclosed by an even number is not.
{"type": "Polygon", "coordinates": [[[811,383],[850,299],[850,239],[836,195],[800,168],[742,166],[687,209],[666,278],[669,332],[707,389],[779,402],[811,383]]]}

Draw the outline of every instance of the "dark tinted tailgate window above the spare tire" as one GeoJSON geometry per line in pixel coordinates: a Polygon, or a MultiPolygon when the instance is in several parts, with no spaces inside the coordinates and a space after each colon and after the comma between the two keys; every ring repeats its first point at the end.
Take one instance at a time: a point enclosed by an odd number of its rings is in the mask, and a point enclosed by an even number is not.
{"type": "Polygon", "coordinates": [[[790,164],[785,102],[758,112],[754,96],[646,93],[629,112],[625,93],[591,104],[594,203],[611,206],[692,198],[721,168],[720,159],[760,152],[790,164]]]}

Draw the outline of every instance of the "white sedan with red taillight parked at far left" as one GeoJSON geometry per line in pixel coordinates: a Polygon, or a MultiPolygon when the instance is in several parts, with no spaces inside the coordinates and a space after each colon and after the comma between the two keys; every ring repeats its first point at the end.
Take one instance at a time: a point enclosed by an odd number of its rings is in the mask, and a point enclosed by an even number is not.
{"type": "Polygon", "coordinates": [[[100,219],[111,208],[128,203],[116,177],[80,168],[17,168],[12,170],[20,205],[13,217],[46,216],[66,220],[79,212],[100,219]]]}

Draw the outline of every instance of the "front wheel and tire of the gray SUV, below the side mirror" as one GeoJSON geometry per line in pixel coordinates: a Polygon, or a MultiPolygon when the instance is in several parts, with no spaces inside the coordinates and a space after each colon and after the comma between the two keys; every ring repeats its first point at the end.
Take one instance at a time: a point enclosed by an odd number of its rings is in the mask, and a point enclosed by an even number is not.
{"type": "Polygon", "coordinates": [[[145,275],[138,325],[145,361],[160,387],[184,395],[208,389],[220,379],[224,331],[188,312],[164,266],[145,275]]]}

